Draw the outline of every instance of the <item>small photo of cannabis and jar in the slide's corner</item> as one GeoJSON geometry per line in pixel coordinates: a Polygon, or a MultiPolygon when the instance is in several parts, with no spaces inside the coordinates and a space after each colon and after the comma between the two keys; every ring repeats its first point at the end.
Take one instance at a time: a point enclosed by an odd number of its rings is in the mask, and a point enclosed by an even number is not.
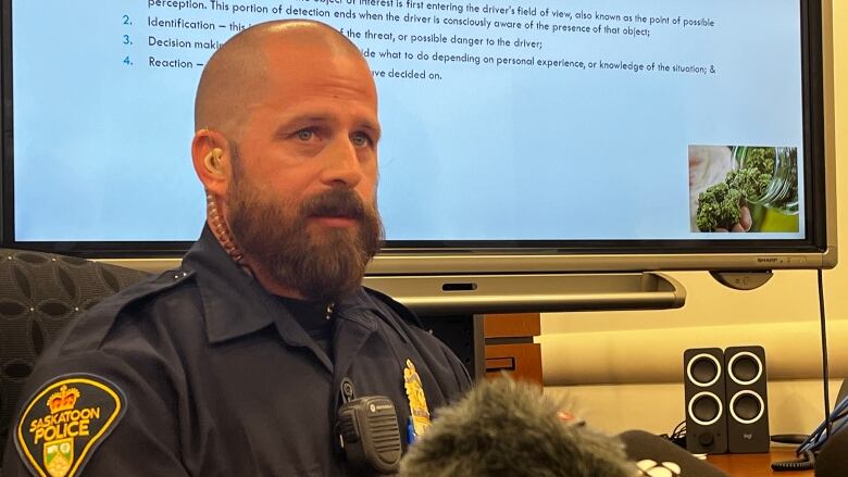
{"type": "Polygon", "coordinates": [[[797,148],[690,146],[693,231],[798,231],[797,148]]]}

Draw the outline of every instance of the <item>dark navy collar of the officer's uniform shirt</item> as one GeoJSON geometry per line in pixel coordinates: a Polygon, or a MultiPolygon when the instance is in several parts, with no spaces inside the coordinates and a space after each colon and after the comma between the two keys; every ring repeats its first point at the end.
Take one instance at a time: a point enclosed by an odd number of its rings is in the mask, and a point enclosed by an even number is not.
{"type": "MultiPolygon", "coordinates": [[[[211,343],[249,335],[275,323],[273,313],[279,313],[279,306],[273,302],[274,297],[236,265],[209,226],[203,226],[200,239],[189,249],[183,264],[197,276],[211,343]]],[[[374,303],[361,288],[353,297],[336,303],[335,315],[374,330],[376,323],[369,313],[362,313],[365,310],[374,310],[374,303]]],[[[287,336],[285,328],[277,326],[282,338],[295,338],[287,336]]]]}

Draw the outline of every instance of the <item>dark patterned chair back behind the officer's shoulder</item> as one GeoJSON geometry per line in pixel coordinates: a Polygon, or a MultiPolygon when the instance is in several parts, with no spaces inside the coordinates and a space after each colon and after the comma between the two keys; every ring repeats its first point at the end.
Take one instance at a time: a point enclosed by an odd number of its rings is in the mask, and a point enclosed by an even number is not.
{"type": "Polygon", "coordinates": [[[0,473],[21,388],[62,327],[148,274],[72,256],[0,249],[0,473]]]}

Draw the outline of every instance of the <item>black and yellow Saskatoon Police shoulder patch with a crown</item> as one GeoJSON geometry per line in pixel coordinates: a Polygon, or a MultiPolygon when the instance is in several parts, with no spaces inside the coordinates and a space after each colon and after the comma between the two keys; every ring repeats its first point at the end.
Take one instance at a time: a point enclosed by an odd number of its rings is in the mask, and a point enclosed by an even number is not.
{"type": "Polygon", "coordinates": [[[125,410],[124,392],[105,378],[57,377],[26,402],[15,428],[17,453],[33,475],[77,476],[125,410]]]}

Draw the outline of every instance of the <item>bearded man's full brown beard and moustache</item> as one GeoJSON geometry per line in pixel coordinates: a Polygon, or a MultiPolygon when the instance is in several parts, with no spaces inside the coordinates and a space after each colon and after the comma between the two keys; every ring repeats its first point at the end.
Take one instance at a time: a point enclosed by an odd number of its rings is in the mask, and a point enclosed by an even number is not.
{"type": "Polygon", "coordinates": [[[359,290],[383,239],[383,223],[373,205],[347,188],[329,189],[300,204],[286,203],[238,176],[235,172],[227,190],[226,218],[254,266],[310,301],[334,302],[359,290]],[[347,217],[357,225],[310,227],[310,217],[315,216],[347,217]]]}

